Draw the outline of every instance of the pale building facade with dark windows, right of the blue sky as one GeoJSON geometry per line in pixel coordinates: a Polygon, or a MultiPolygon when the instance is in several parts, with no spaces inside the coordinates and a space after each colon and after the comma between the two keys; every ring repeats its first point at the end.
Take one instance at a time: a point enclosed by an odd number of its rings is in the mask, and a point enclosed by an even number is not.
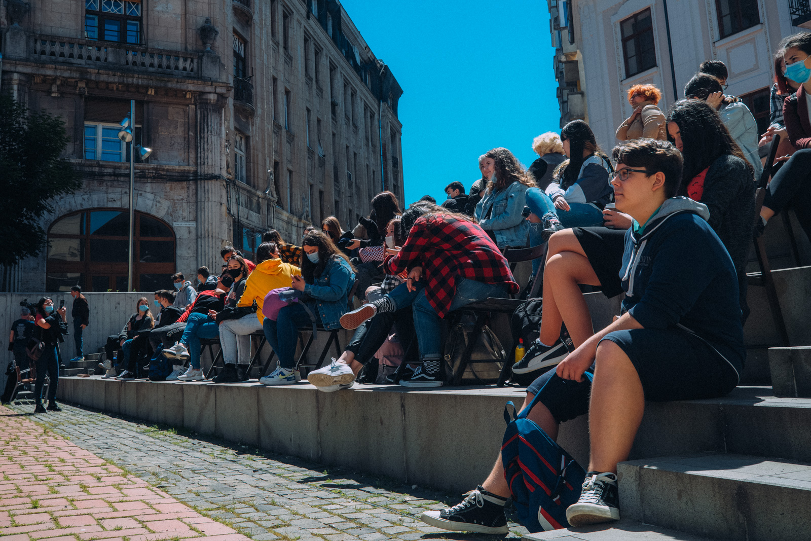
{"type": "Polygon", "coordinates": [[[809,24],[809,0],[547,0],[556,47],[560,126],[585,119],[599,144],[633,112],[626,92],[655,84],[659,107],[682,97],[704,60],[729,70],[727,94],[741,97],[759,131],[768,127],[772,58],[779,41],[809,24]],[[800,26],[801,25],[801,26],[800,26]]]}

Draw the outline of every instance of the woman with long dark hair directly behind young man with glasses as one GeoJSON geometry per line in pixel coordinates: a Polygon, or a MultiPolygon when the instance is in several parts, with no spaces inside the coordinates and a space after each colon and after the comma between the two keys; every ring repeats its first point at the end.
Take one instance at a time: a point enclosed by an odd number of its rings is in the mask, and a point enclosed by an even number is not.
{"type": "Polygon", "coordinates": [[[706,204],[707,222],[735,264],[745,321],[749,316],[745,266],[755,208],[752,165],[706,101],[676,101],[667,113],[667,136],[684,156],[679,195],[706,204]]]}

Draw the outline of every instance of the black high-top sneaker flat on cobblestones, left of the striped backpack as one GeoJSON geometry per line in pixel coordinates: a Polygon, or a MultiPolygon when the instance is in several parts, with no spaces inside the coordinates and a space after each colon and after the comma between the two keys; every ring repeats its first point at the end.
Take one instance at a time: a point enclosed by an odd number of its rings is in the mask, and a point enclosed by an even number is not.
{"type": "Polygon", "coordinates": [[[504,515],[507,498],[487,492],[481,485],[466,493],[461,504],[441,511],[425,511],[420,520],[435,528],[504,535],[509,529],[504,515]]]}

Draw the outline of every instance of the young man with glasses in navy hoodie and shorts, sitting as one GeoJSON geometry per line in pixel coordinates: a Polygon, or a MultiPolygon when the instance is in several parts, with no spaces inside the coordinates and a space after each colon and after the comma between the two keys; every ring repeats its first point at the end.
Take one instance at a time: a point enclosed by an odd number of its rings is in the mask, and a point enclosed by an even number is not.
{"type": "MultiPolygon", "coordinates": [[[[620,518],[616,465],[627,460],[645,401],[721,397],[745,355],[735,267],[706,223],[706,206],[676,197],[680,152],[634,140],[614,148],[616,207],[626,232],[623,314],[527,389],[529,414],[556,438],[559,423],[589,413],[590,464],[572,526],[620,518]]],[[[509,489],[500,460],[461,504],[423,513],[446,530],[506,533],[509,489]]]]}

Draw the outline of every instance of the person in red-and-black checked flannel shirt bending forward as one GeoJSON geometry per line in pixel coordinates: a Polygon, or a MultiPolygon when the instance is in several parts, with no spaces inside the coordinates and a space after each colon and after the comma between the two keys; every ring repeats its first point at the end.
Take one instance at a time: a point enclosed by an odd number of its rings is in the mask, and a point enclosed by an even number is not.
{"type": "Polygon", "coordinates": [[[436,204],[423,205],[428,212],[414,222],[403,247],[386,249],[385,272],[407,270],[405,284],[341,318],[344,328],[357,328],[375,314],[413,303],[422,364],[413,376],[400,380],[405,387],[442,385],[442,320],[448,313],[519,290],[504,255],[472,218],[436,204]]]}

